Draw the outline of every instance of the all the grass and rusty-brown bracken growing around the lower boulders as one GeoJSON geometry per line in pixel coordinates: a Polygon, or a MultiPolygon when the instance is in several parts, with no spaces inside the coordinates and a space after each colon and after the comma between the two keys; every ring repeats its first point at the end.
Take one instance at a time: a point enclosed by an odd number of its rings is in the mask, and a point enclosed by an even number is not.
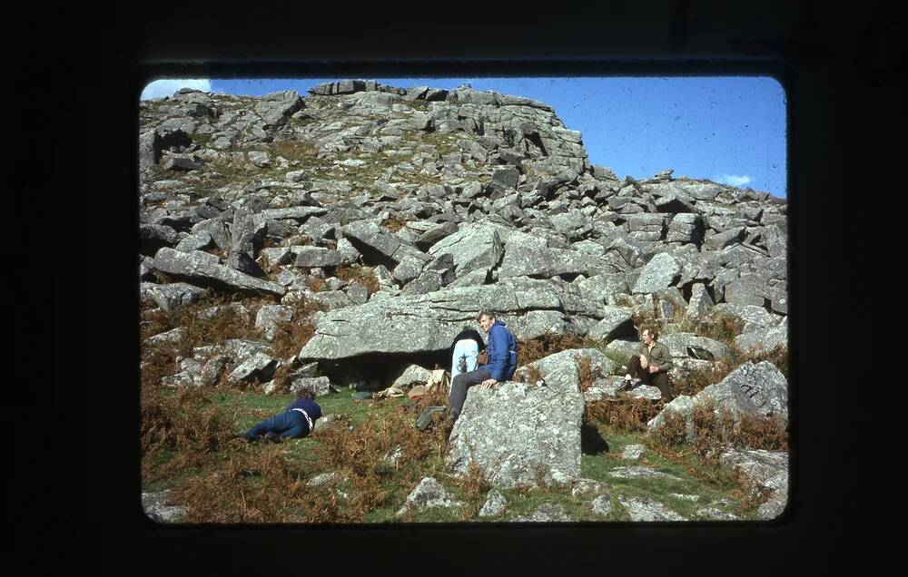
{"type": "MultiPolygon", "coordinates": [[[[343,277],[357,278],[362,269],[350,267],[343,277]]],[[[569,488],[500,490],[508,500],[506,512],[498,517],[479,517],[479,509],[489,493],[489,484],[478,470],[466,478],[454,479],[445,472],[447,439],[434,427],[422,434],[412,426],[422,406],[445,405],[446,387],[436,387],[428,396],[412,403],[405,398],[357,401],[344,390],[321,396],[319,403],[326,415],[340,416],[339,424],[303,440],[281,445],[246,445],[232,438],[258,421],[282,411],[291,395],[263,395],[250,389],[219,386],[200,390],[165,390],[157,386],[160,377],[173,374],[175,357],[190,356],[192,347],[219,342],[225,338],[254,337],[252,319],[258,307],[271,304],[269,298],[238,299],[250,309],[242,317],[230,308],[210,320],[198,312],[213,304],[227,305],[229,298],[214,295],[202,303],[175,311],[143,308],[142,333],[150,337],[176,327],[187,329],[178,343],[144,347],[142,405],[143,490],[173,489],[188,510],[187,520],[205,523],[457,523],[507,521],[529,516],[541,504],[558,504],[574,521],[625,521],[627,511],[619,497],[650,497],[686,518],[696,518],[696,510],[720,499],[734,504],[720,507],[747,519],[755,515],[767,494],[735,472],[720,466],[716,448],[749,446],[787,450],[787,431],[772,419],[745,417],[733,425],[727,416],[711,407],[695,415],[695,439],[688,444],[685,426],[671,417],[655,436],[645,435],[646,422],[661,409],[661,401],[622,398],[589,403],[584,426],[592,427],[606,441],[607,451],[583,455],[582,474],[606,485],[605,494],[612,507],[605,517],[592,513],[590,502],[596,495],[570,494],[569,488]],[[674,474],[680,480],[619,479],[608,472],[629,465],[620,458],[624,446],[646,445],[639,465],[674,474]],[[400,448],[396,465],[386,460],[400,448]],[[338,480],[321,487],[306,482],[322,472],[336,472],[338,480]],[[425,476],[434,476],[459,499],[453,509],[428,509],[398,515],[412,489],[425,476]],[[696,494],[696,502],[673,494],[696,494]]],[[[316,307],[308,301],[296,304],[291,321],[275,329],[274,350],[295,354],[311,337],[307,322],[316,307]]],[[[529,364],[560,350],[595,346],[578,337],[541,337],[521,344],[525,373],[529,364]]],[[[716,364],[707,376],[690,376],[696,382],[721,377],[745,360],[771,360],[787,373],[785,351],[745,355],[733,347],[726,365],[716,364]]],[[[577,357],[582,389],[597,376],[585,357],[577,357]]],[[[286,377],[286,376],[284,376],[286,377]]],[[[529,377],[534,377],[530,375],[529,377]]],[[[539,377],[538,375],[535,377],[539,377]]],[[[532,379],[531,379],[532,380],[532,379]]],[[[691,382],[694,382],[692,380],[691,382]]],[[[678,385],[676,385],[678,386],[678,385]]],[[[687,383],[682,386],[696,386],[687,383]]]]}

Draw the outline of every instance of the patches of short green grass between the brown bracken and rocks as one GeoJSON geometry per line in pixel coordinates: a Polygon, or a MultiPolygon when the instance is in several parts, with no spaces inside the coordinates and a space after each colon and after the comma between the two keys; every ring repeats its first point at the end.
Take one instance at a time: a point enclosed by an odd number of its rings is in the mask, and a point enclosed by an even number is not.
{"type": "MultiPolygon", "coordinates": [[[[283,410],[291,401],[292,396],[267,396],[253,392],[240,391],[212,391],[207,395],[208,399],[216,405],[222,407],[226,415],[234,415],[234,429],[240,433],[252,426],[259,420],[267,418],[283,410]]],[[[350,398],[350,391],[341,391],[326,396],[319,397],[324,413],[344,414],[350,417],[350,425],[360,426],[366,423],[371,415],[387,417],[400,410],[405,403],[405,399],[389,399],[385,401],[359,401],[350,398]]],[[[410,422],[410,416],[403,417],[404,422],[410,422]]],[[[718,500],[727,500],[729,503],[736,505],[741,503],[739,495],[740,487],[736,484],[718,484],[707,483],[697,479],[690,474],[688,467],[696,466],[696,460],[689,460],[686,463],[676,464],[661,455],[657,455],[648,448],[641,457],[638,465],[649,466],[656,471],[662,471],[674,474],[681,478],[680,481],[673,479],[620,479],[610,477],[608,472],[616,467],[635,465],[624,461],[620,458],[621,451],[626,445],[643,444],[644,437],[639,434],[627,434],[610,432],[600,428],[600,434],[607,441],[607,452],[599,455],[583,455],[581,459],[582,474],[591,479],[595,479],[607,485],[606,494],[609,495],[612,504],[611,513],[607,516],[599,516],[592,513],[591,502],[597,496],[596,494],[572,496],[565,489],[541,489],[541,490],[501,490],[508,500],[508,506],[502,515],[498,517],[479,517],[476,513],[485,500],[486,492],[470,497],[454,480],[443,474],[442,461],[439,457],[429,457],[417,463],[402,463],[400,468],[384,480],[382,489],[389,491],[384,500],[378,506],[372,508],[369,513],[362,517],[365,523],[382,523],[382,522],[460,522],[470,520],[476,522],[496,522],[508,521],[515,516],[528,516],[533,513],[540,504],[560,504],[574,521],[627,521],[627,512],[618,502],[618,496],[625,497],[650,497],[656,501],[665,504],[666,508],[680,513],[689,519],[696,518],[696,509],[707,504],[713,504],[718,500]],[[419,512],[410,513],[404,517],[397,516],[397,511],[404,503],[407,495],[422,476],[435,476],[441,484],[444,484],[452,494],[464,503],[463,508],[457,509],[427,509],[419,512]],[[672,494],[698,495],[696,502],[690,502],[676,498],[672,494]]],[[[283,458],[290,465],[291,470],[303,481],[309,480],[314,472],[320,471],[321,466],[317,463],[315,448],[323,443],[319,435],[313,435],[310,438],[291,440],[278,447],[269,445],[250,445],[248,451],[270,451],[279,450],[283,458]]],[[[683,448],[683,447],[682,447],[683,448]]],[[[169,458],[175,455],[175,451],[167,451],[161,455],[159,462],[165,463],[169,458]]],[[[163,488],[176,487],[185,483],[192,477],[210,473],[216,465],[209,464],[202,467],[185,468],[173,477],[165,478],[155,482],[143,484],[144,491],[157,491],[163,488]]],[[[389,467],[393,469],[392,467],[389,467]]],[[[258,486],[262,479],[252,476],[248,483],[250,487],[258,486]]],[[[339,485],[341,490],[346,490],[350,494],[350,488],[343,484],[339,485]]],[[[741,514],[740,511],[729,508],[728,506],[719,506],[729,512],[741,514]]],[[[742,518],[750,516],[748,513],[741,515],[742,518]]]]}

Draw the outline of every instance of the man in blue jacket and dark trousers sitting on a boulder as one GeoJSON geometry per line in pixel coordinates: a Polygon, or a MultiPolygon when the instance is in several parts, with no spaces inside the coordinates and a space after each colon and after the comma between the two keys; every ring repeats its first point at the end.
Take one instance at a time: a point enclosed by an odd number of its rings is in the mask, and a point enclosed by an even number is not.
{"type": "Polygon", "coordinates": [[[517,338],[508,326],[489,311],[480,311],[476,317],[479,327],[489,334],[489,364],[474,371],[461,373],[451,382],[449,419],[456,421],[467,400],[467,389],[481,384],[491,388],[500,381],[507,381],[517,370],[517,338]]]}

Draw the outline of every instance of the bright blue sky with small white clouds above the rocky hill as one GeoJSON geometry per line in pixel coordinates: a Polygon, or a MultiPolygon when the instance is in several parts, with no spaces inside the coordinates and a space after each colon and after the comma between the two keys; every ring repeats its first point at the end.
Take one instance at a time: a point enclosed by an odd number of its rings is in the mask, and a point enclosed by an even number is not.
{"type": "MultiPolygon", "coordinates": [[[[706,178],[786,196],[785,91],[761,77],[373,78],[407,88],[429,85],[517,94],[549,104],[583,134],[593,164],[617,176],[706,178]]],[[[214,93],[305,93],[338,78],[167,80],[142,97],[173,94],[181,86],[214,93]]]]}

